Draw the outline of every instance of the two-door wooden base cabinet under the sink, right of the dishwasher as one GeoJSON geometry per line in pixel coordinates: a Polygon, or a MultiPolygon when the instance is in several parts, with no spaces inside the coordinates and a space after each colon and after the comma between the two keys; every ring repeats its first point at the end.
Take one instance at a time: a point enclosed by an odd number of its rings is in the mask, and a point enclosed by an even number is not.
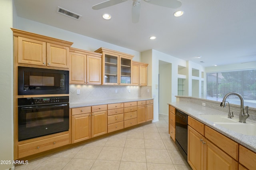
{"type": "MultiPolygon", "coordinates": [[[[188,163],[194,170],[238,170],[238,162],[224,152],[222,145],[232,145],[230,139],[226,139],[219,132],[207,127],[202,126],[202,123],[195,119],[188,117],[188,163]],[[199,133],[194,128],[202,132],[205,128],[205,134],[199,133]],[[209,139],[208,134],[215,138],[213,141],[209,139]],[[207,138],[206,138],[207,136],[207,138]],[[220,142],[222,144],[220,144],[220,142]],[[220,149],[222,148],[222,149],[220,149]]],[[[237,144],[237,143],[236,143],[237,144]]],[[[234,145],[235,146],[235,145],[234,145]]],[[[232,148],[229,153],[238,154],[238,149],[232,148]]]]}

